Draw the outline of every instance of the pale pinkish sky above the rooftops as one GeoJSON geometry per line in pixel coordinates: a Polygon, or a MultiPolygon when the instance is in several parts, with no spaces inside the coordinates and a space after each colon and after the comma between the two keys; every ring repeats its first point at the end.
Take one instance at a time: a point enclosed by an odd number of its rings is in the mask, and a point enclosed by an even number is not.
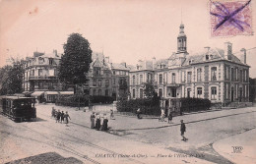
{"type": "MultiPolygon", "coordinates": [[[[26,58],[33,51],[63,53],[69,34],[79,32],[95,52],[113,63],[168,58],[177,49],[181,22],[190,55],[204,47],[233,52],[256,47],[256,36],[212,37],[208,0],[0,0],[0,67],[10,57],[26,58]]],[[[256,1],[250,3],[256,16],[256,1]]],[[[256,17],[252,17],[256,31],[256,17]]],[[[247,51],[250,77],[256,78],[256,49],[247,51]]]]}

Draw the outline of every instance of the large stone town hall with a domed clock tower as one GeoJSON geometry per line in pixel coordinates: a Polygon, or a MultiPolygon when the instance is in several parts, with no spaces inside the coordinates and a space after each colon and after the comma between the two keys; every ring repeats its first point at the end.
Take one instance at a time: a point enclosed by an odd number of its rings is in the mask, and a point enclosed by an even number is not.
{"type": "MultiPolygon", "coordinates": [[[[184,26],[177,37],[177,52],[167,59],[140,60],[130,71],[131,98],[143,97],[143,82],[153,77],[156,90],[162,97],[162,106],[171,106],[172,100],[181,97],[210,99],[213,103],[249,101],[249,66],[246,51],[238,59],[232,53],[232,44],[224,49],[205,47],[197,55],[187,53],[184,26]]],[[[177,105],[177,104],[173,104],[177,105]]]]}

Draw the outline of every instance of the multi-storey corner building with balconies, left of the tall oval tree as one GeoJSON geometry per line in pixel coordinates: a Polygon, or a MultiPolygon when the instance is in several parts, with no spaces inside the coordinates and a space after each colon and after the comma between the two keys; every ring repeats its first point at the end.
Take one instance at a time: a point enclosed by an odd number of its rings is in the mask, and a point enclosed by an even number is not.
{"type": "Polygon", "coordinates": [[[24,91],[59,90],[57,77],[60,55],[56,51],[51,54],[34,52],[33,57],[24,61],[24,91]]]}

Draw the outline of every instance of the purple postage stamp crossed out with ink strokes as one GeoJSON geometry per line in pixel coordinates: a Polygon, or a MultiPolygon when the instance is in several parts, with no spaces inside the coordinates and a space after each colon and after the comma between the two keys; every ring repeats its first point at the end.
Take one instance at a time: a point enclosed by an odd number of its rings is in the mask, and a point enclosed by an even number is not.
{"type": "Polygon", "coordinates": [[[210,1],[211,36],[253,34],[250,2],[210,1]]]}

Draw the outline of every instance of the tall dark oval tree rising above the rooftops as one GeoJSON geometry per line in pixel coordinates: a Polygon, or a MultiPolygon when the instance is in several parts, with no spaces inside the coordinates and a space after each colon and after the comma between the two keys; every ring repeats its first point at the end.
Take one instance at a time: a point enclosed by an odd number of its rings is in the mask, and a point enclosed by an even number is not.
{"type": "Polygon", "coordinates": [[[89,41],[80,33],[72,33],[63,48],[59,67],[60,82],[79,85],[87,82],[93,52],[89,41]]]}

